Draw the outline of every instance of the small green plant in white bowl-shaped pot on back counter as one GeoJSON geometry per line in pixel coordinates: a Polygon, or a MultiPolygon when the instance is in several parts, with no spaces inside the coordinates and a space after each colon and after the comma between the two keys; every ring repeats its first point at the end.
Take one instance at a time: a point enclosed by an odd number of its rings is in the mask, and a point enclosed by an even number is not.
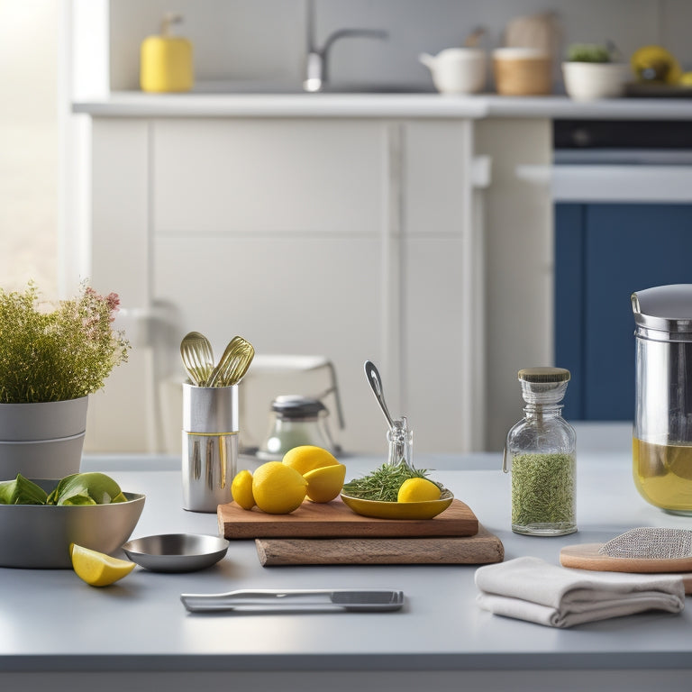
{"type": "Polygon", "coordinates": [[[632,77],[631,68],[616,58],[617,50],[612,45],[571,45],[568,59],[562,63],[568,95],[578,101],[623,96],[624,87],[632,77]]]}

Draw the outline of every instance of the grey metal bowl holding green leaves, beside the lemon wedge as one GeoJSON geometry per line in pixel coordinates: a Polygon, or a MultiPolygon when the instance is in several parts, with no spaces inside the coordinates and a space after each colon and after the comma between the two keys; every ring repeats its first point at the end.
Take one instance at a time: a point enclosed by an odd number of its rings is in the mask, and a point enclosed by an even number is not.
{"type": "MultiPolygon", "coordinates": [[[[59,479],[34,480],[46,492],[59,479]]],[[[140,520],[144,496],[125,493],[112,505],[0,505],[0,567],[72,567],[69,544],[112,553],[127,541],[140,520]]]]}

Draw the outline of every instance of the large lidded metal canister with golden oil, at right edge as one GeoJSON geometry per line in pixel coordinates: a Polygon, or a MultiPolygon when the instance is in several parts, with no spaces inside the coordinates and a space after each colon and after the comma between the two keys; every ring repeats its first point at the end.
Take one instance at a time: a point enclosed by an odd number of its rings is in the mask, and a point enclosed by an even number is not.
{"type": "Polygon", "coordinates": [[[692,284],[632,295],[634,483],[651,505],[692,514],[692,284]]]}

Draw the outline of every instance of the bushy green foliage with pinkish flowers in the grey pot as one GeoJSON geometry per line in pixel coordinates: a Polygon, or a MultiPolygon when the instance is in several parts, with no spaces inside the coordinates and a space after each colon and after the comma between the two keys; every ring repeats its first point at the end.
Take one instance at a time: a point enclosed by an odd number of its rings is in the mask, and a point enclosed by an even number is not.
{"type": "Polygon", "coordinates": [[[46,310],[33,283],[0,288],[0,403],[65,401],[93,394],[130,344],[112,328],[120,301],[83,284],[79,295],[46,310]]]}

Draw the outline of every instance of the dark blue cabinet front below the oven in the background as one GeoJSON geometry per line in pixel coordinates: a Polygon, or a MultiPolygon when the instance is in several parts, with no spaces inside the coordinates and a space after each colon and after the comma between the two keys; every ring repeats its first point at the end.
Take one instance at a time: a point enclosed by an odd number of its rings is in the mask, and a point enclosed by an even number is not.
{"type": "Polygon", "coordinates": [[[555,362],[565,368],[572,362],[579,373],[574,378],[581,379],[580,387],[570,383],[565,416],[633,420],[630,296],[692,283],[692,205],[556,205],[555,222],[555,362]],[[564,251],[570,244],[579,246],[573,258],[564,251]],[[575,262],[581,263],[577,279],[575,262]],[[570,290],[580,292],[580,302],[570,290]],[[569,315],[559,318],[575,305],[581,314],[573,323],[569,315]],[[578,396],[568,402],[573,388],[578,396]]]}

